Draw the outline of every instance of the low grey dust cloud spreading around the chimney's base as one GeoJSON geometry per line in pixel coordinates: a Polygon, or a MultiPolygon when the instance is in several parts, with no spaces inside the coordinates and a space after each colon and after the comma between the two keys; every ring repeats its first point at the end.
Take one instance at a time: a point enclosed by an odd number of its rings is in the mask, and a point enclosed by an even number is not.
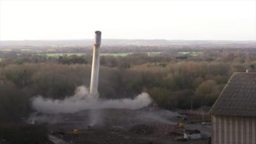
{"type": "Polygon", "coordinates": [[[72,97],[58,100],[37,96],[32,99],[31,104],[36,111],[41,113],[59,114],[76,113],[86,109],[141,109],[151,102],[147,93],[141,93],[134,99],[103,100],[90,95],[85,86],[79,86],[72,97]]]}

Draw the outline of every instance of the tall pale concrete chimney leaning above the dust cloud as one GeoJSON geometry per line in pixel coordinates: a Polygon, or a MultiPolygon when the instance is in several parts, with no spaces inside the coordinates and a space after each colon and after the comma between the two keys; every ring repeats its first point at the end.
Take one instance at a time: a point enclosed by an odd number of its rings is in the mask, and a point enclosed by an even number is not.
{"type": "Polygon", "coordinates": [[[90,85],[90,93],[92,94],[98,93],[99,68],[100,68],[100,42],[101,42],[101,32],[95,31],[93,58],[92,58],[92,75],[91,75],[91,85],[90,85]]]}

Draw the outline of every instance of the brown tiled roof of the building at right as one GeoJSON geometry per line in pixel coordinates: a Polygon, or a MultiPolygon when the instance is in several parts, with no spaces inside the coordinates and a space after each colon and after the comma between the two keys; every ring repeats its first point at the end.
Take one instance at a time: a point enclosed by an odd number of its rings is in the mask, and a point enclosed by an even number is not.
{"type": "Polygon", "coordinates": [[[256,116],[256,72],[234,73],[212,106],[210,113],[256,116]]]}

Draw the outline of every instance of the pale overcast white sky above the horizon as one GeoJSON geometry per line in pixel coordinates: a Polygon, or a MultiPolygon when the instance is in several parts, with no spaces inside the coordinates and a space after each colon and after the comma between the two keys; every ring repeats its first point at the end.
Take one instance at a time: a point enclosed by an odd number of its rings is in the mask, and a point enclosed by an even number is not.
{"type": "Polygon", "coordinates": [[[0,0],[0,40],[256,40],[256,1],[0,0]]]}

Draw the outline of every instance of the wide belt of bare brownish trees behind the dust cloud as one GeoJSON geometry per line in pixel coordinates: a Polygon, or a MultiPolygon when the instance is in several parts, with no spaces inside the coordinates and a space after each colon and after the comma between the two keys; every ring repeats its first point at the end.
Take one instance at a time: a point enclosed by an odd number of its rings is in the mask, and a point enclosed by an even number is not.
{"type": "MultiPolygon", "coordinates": [[[[0,119],[20,120],[31,113],[36,95],[63,99],[77,86],[90,86],[92,55],[20,55],[0,62],[0,119]]],[[[212,106],[233,72],[254,68],[255,51],[205,50],[197,56],[177,52],[148,56],[102,56],[99,93],[122,99],[147,92],[160,107],[212,106]],[[186,56],[180,59],[180,56],[186,56]]]]}

